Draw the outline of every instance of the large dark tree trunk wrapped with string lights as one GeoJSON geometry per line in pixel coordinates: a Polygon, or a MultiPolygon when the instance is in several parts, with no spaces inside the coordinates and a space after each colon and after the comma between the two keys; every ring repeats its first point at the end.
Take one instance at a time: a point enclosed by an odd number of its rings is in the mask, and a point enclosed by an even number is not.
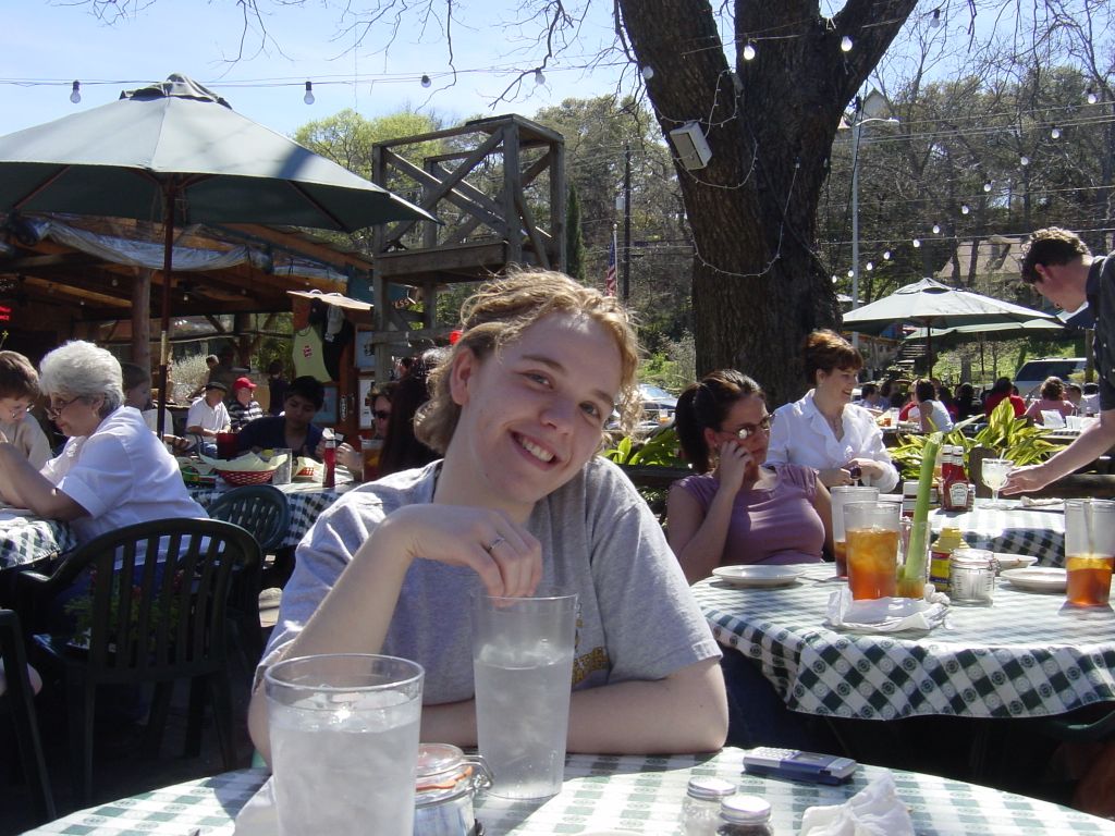
{"type": "Polygon", "coordinates": [[[620,0],[663,134],[690,119],[712,159],[675,164],[692,231],[697,373],[752,375],[772,408],[801,395],[801,342],[838,313],[816,257],[816,211],[841,116],[915,0],[736,0],[736,78],[711,6],[620,0]],[[869,25],[870,26],[866,26],[869,25]],[[754,32],[754,36],[749,33],[754,32]],[[854,39],[841,50],[844,35],[854,39]],[[777,37],[764,38],[764,35],[777,37]],[[754,37],[757,55],[743,59],[754,37]]]}

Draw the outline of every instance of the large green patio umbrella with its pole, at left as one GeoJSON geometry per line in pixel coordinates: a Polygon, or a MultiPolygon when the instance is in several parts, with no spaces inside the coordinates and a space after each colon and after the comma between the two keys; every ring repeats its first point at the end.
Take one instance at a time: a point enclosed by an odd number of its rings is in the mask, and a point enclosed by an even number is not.
{"type": "MultiPolygon", "coordinates": [[[[425,210],[235,113],[190,78],[0,137],[0,212],[162,222],[166,391],[174,227],[259,223],[355,232],[425,210]]],[[[159,410],[159,434],[163,431],[159,410]]]]}

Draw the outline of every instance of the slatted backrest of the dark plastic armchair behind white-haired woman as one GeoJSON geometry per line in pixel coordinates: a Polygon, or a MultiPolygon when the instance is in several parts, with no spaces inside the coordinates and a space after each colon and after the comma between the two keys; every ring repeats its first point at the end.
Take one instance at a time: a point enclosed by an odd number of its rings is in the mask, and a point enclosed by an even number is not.
{"type": "Polygon", "coordinates": [[[87,583],[87,596],[71,599],[67,612],[86,615],[95,678],[193,675],[223,667],[233,568],[260,560],[255,539],[236,525],[155,519],[78,547],[47,585],[57,593],[87,583]]]}

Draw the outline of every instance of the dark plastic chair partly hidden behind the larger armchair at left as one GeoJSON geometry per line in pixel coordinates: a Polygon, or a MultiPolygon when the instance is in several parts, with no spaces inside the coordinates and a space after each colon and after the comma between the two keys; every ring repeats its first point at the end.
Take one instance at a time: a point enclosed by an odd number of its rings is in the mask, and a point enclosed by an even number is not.
{"type": "Polygon", "coordinates": [[[209,515],[239,525],[260,545],[260,562],[239,570],[229,593],[229,616],[235,626],[236,645],[244,668],[251,671],[263,654],[260,626],[263,558],[282,545],[290,529],[290,505],[287,495],[272,485],[248,485],[220,497],[209,507],[209,515]],[[253,662],[250,664],[249,660],[253,662]]]}

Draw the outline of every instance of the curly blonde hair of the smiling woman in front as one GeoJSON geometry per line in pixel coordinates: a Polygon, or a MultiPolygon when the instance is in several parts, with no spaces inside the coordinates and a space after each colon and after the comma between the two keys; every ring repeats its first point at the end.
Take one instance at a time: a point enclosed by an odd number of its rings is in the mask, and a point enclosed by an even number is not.
{"type": "MultiPolygon", "coordinates": [[[[527,328],[552,313],[572,313],[603,325],[620,352],[620,428],[630,434],[639,421],[642,402],[636,375],[639,342],[627,310],[613,297],[578,284],[564,273],[520,270],[485,282],[460,307],[460,338],[429,373],[430,399],[415,416],[415,435],[427,447],[444,454],[457,428],[460,407],[449,393],[448,371],[458,352],[471,349],[477,358],[498,352],[527,328]]],[[[601,438],[603,436],[601,435],[601,438]]]]}

